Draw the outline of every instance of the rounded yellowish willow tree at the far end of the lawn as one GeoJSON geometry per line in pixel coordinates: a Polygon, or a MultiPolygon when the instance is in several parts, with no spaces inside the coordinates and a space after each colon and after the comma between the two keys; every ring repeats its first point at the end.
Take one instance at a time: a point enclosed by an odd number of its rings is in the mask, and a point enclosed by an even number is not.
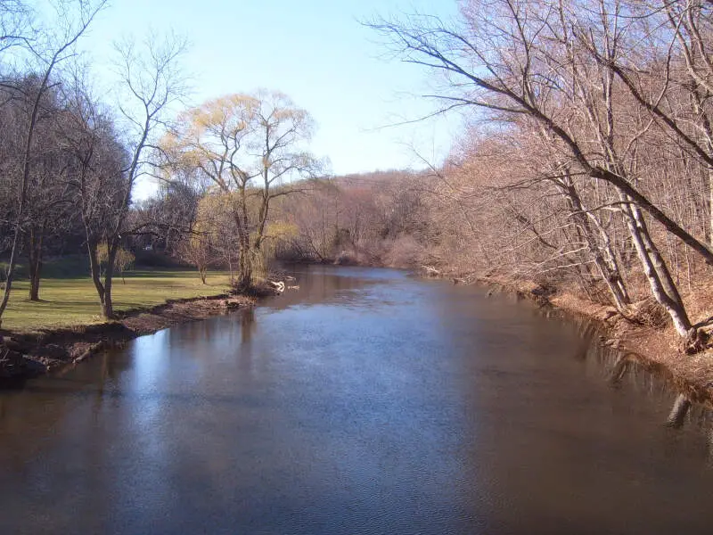
{"type": "Polygon", "coordinates": [[[237,233],[241,288],[264,265],[270,202],[305,189],[320,162],[307,151],[313,121],[279,92],[226,95],[184,111],[161,148],[171,165],[188,166],[229,195],[237,233]]]}

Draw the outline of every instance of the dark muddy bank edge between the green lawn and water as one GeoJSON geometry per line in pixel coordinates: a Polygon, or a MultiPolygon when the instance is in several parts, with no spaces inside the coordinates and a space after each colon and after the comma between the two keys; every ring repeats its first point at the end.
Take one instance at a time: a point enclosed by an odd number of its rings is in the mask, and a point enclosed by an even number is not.
{"type": "Polygon", "coordinates": [[[262,289],[250,295],[220,294],[168,300],[150,309],[119,313],[116,321],[32,332],[0,331],[0,388],[78,363],[95,353],[172,325],[227,314],[250,307],[262,289]]]}

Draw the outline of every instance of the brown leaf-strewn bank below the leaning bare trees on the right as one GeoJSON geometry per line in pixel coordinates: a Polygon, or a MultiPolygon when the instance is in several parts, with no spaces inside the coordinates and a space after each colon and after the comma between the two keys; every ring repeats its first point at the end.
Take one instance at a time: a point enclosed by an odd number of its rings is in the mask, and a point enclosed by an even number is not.
{"type": "MultiPolygon", "coordinates": [[[[649,301],[639,304],[636,321],[622,317],[611,305],[602,305],[527,280],[504,277],[451,277],[455,284],[481,284],[488,292],[509,292],[544,309],[594,321],[602,343],[620,351],[619,369],[630,363],[649,370],[674,385],[686,399],[713,407],[713,349],[687,355],[681,339],[649,301]]],[[[612,371],[616,374],[616,370],[612,371]]]]}

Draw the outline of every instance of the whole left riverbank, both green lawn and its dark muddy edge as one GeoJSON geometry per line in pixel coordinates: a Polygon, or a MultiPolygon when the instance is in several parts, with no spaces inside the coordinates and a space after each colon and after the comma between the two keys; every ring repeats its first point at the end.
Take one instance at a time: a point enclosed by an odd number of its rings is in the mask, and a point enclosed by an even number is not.
{"type": "Polygon", "coordinates": [[[202,284],[193,271],[134,271],[115,280],[117,319],[105,321],[97,316],[96,292],[86,276],[45,278],[40,301],[25,299],[26,285],[20,281],[13,288],[0,329],[0,386],[70,366],[143,334],[251,306],[261,293],[235,294],[230,275],[222,272],[202,284]]]}

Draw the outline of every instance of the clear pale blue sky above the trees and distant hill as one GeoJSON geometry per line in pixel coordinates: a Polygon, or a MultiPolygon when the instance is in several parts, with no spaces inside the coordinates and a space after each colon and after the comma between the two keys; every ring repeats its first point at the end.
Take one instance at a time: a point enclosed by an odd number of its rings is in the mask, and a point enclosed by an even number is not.
{"type": "Polygon", "coordinates": [[[188,37],[193,103],[258,87],[280,90],[316,119],[313,152],[332,172],[422,167],[447,152],[457,118],[395,127],[434,109],[425,70],[387,57],[380,37],[360,21],[428,12],[455,17],[455,0],[113,0],[83,48],[97,65],[111,42],[150,30],[188,37]]]}

